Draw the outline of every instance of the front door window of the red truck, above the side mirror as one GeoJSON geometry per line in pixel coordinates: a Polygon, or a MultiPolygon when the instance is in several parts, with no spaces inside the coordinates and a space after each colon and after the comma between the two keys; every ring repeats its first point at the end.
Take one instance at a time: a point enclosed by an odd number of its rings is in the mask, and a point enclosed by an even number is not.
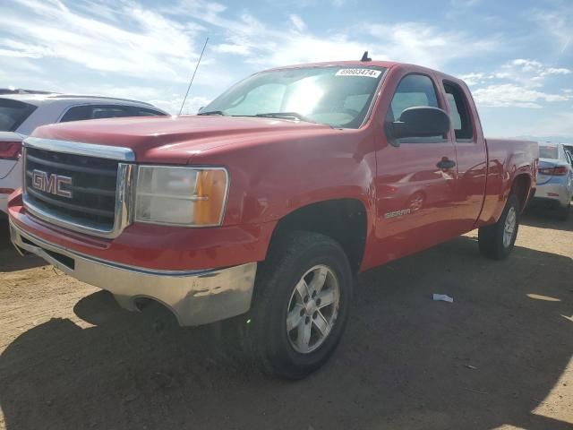
{"type": "Polygon", "coordinates": [[[408,107],[438,105],[432,80],[423,74],[408,74],[400,81],[388,112],[388,120],[396,121],[408,107]]]}

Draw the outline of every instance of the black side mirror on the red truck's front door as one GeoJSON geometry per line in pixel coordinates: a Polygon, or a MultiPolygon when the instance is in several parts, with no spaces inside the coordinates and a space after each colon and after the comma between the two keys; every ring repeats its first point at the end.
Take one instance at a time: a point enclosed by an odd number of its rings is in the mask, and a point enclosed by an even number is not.
{"type": "Polygon", "coordinates": [[[438,107],[408,107],[398,121],[389,123],[389,137],[432,137],[449,132],[449,115],[438,107]]]}

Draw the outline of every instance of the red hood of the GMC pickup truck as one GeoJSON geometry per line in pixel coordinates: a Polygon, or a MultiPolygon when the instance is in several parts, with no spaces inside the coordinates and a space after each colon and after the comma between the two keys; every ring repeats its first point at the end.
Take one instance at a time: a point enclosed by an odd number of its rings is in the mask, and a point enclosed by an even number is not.
{"type": "Polygon", "coordinates": [[[220,146],[264,142],[278,134],[297,138],[325,130],[331,130],[329,125],[277,118],[138,116],[44,125],[32,135],[130,148],[142,162],[185,164],[194,154],[220,146]]]}

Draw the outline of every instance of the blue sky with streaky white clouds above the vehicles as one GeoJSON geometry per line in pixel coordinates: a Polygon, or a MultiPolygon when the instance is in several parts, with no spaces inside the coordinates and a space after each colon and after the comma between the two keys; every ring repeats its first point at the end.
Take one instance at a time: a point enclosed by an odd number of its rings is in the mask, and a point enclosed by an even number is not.
{"type": "Polygon", "coordinates": [[[465,78],[485,132],[573,142],[572,0],[7,0],[0,87],[150,101],[184,112],[245,75],[359,58],[465,78]]]}

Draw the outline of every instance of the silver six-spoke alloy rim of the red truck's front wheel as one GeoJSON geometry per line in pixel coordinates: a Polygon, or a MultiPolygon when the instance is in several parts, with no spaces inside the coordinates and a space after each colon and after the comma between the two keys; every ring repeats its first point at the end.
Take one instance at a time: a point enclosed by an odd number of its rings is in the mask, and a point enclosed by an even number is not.
{"type": "Polygon", "coordinates": [[[340,284],[328,266],[304,273],[286,309],[286,336],[296,352],[308,354],[324,343],[336,323],[339,302],[340,284]]]}

